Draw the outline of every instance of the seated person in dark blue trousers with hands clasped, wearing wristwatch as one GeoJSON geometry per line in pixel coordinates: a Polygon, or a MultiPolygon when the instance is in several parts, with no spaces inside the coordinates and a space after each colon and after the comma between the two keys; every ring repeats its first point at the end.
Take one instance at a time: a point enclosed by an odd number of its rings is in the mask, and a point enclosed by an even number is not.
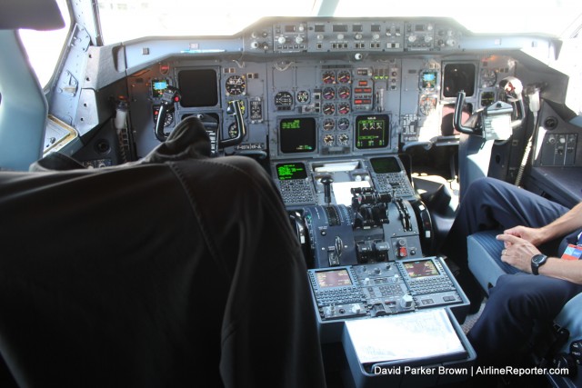
{"type": "Polygon", "coordinates": [[[504,242],[500,264],[507,274],[489,291],[483,313],[467,333],[477,363],[484,365],[515,364],[534,321],[551,322],[582,292],[582,261],[561,259],[568,244],[575,255],[582,244],[582,203],[570,210],[513,184],[481,178],[467,189],[442,247],[460,268],[459,284],[468,290],[473,312],[482,293],[468,271],[467,236],[497,229],[503,231],[497,240],[504,242]]]}

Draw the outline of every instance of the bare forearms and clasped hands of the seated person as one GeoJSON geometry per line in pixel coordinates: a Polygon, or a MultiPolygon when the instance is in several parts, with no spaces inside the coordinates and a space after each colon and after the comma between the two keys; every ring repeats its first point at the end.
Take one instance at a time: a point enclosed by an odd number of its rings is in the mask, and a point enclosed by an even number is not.
{"type": "MultiPolygon", "coordinates": [[[[541,254],[536,247],[537,245],[567,235],[580,228],[582,228],[582,203],[574,206],[556,221],[541,228],[516,226],[507,229],[504,234],[497,236],[497,240],[501,240],[505,244],[501,260],[531,274],[531,258],[535,254],[541,254]]],[[[582,260],[572,261],[548,257],[546,264],[538,268],[538,274],[582,284],[582,260]]]]}

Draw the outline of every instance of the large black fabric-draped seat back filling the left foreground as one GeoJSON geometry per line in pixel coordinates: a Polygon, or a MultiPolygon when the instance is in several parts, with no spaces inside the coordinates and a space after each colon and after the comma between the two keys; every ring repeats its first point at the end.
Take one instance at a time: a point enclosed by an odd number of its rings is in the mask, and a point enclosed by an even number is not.
{"type": "Polygon", "coordinates": [[[0,173],[0,355],[13,384],[325,385],[276,186],[252,159],[207,157],[196,120],[139,163],[0,173]]]}

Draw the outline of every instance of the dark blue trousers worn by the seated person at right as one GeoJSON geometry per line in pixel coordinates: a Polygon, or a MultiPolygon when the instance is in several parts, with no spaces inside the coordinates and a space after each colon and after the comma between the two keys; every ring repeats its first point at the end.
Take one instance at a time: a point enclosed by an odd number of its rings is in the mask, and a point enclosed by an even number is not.
{"type": "MultiPolygon", "coordinates": [[[[479,179],[467,189],[441,251],[467,272],[467,235],[491,229],[501,232],[520,224],[540,227],[568,210],[512,184],[479,179]]],[[[573,233],[544,244],[540,250],[559,257],[567,244],[576,242],[577,233],[573,233]]],[[[489,291],[485,310],[467,335],[478,363],[510,362],[530,337],[535,320],[551,322],[570,298],[582,292],[580,284],[517,269],[510,272],[514,274],[501,276],[489,291]]]]}

